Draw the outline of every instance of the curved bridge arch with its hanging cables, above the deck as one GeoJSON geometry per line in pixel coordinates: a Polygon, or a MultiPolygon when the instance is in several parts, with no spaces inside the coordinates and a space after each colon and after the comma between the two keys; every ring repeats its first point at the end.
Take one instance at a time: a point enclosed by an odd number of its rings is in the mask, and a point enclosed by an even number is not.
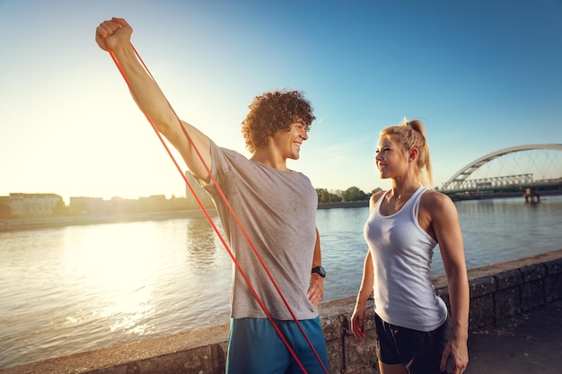
{"type": "MultiPolygon", "coordinates": [[[[523,168],[524,169],[524,168],[523,168]]],[[[489,171],[488,171],[489,173],[489,171]]],[[[476,161],[470,162],[452,178],[443,183],[443,192],[492,189],[495,187],[531,187],[537,184],[562,183],[562,144],[528,144],[505,148],[489,153],[476,161]],[[521,155],[514,161],[514,154],[521,155]],[[542,158],[537,157],[542,154],[542,158]],[[508,156],[510,155],[510,156],[508,156]],[[511,160],[510,160],[511,159],[511,160]],[[496,168],[491,175],[482,175],[480,170],[487,169],[492,163],[501,164],[500,161],[510,161],[515,167],[496,168]],[[522,164],[526,170],[522,170],[522,164]],[[486,165],[486,167],[485,167],[486,165]],[[549,168],[549,174],[540,172],[549,168]],[[514,170],[522,172],[514,173],[514,170]],[[507,175],[501,175],[502,171],[507,175]],[[480,175],[479,175],[480,174],[480,175]],[[472,177],[472,178],[469,178],[472,177]]]]}

